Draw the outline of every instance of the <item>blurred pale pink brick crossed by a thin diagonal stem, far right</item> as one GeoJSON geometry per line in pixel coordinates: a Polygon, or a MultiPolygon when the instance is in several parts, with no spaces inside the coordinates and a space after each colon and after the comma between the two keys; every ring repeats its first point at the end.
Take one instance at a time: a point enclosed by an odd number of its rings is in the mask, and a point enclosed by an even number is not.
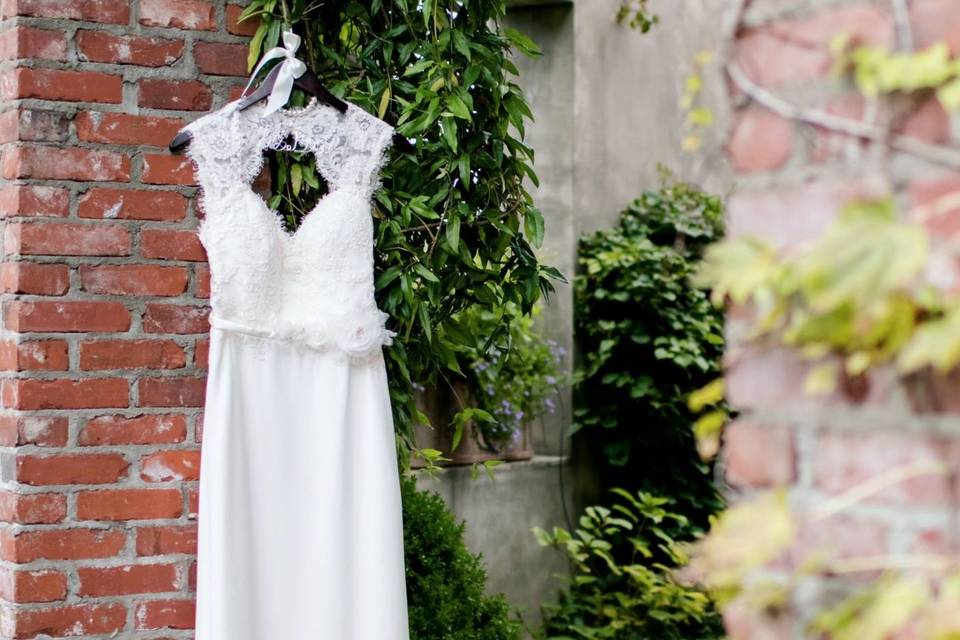
{"type": "MultiPolygon", "coordinates": [[[[946,463],[942,442],[914,434],[823,433],[816,452],[814,483],[830,494],[841,493],[907,465],[946,463]]],[[[951,490],[948,477],[928,473],[898,482],[867,501],[911,507],[947,505],[951,503],[951,490]]]]}

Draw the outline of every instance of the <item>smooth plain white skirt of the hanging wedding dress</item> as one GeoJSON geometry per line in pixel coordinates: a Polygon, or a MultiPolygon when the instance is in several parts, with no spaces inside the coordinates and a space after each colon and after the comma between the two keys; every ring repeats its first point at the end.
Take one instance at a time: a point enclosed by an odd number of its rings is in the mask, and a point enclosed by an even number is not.
{"type": "Polygon", "coordinates": [[[408,640],[382,352],[213,327],[196,640],[408,640]]]}

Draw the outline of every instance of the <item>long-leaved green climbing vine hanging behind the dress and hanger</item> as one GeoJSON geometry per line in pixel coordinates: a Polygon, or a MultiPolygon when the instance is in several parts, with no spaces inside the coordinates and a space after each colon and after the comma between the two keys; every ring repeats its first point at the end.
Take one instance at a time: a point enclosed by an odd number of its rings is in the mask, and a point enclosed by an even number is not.
{"type": "MultiPolygon", "coordinates": [[[[461,331],[457,312],[514,304],[529,313],[561,277],[534,253],[544,221],[525,186],[538,184],[523,142],[533,116],[510,59],[539,50],[501,27],[505,10],[502,0],[253,0],[242,15],[260,21],[251,67],[292,29],[303,38],[298,57],[332,93],[413,143],[394,145],[373,211],[377,303],[398,334],[387,356],[404,464],[412,425],[427,420],[414,383],[462,375],[458,354],[491,337],[461,331]]],[[[306,101],[298,91],[290,104],[306,101]]],[[[278,154],[271,167],[271,205],[295,227],[325,187],[310,158],[278,154]]]]}

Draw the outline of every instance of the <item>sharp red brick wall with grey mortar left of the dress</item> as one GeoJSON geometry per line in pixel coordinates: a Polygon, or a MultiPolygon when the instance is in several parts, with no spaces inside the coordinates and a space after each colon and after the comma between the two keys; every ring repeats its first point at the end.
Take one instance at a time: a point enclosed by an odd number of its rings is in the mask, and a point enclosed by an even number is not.
{"type": "Polygon", "coordinates": [[[242,85],[240,11],[0,2],[2,638],[192,637],[209,273],[165,147],[242,85]]]}

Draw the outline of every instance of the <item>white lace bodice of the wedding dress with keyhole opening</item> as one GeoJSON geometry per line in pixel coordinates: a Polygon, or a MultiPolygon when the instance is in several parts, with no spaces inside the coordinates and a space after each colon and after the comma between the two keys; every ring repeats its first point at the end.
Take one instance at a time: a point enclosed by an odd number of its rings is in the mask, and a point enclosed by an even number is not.
{"type": "Polygon", "coordinates": [[[393,128],[351,103],[263,116],[230,102],[187,125],[205,217],[214,327],[365,357],[389,344],[376,306],[371,200],[393,128]],[[295,233],[253,190],[263,151],[288,136],[313,152],[328,193],[295,233]]]}

